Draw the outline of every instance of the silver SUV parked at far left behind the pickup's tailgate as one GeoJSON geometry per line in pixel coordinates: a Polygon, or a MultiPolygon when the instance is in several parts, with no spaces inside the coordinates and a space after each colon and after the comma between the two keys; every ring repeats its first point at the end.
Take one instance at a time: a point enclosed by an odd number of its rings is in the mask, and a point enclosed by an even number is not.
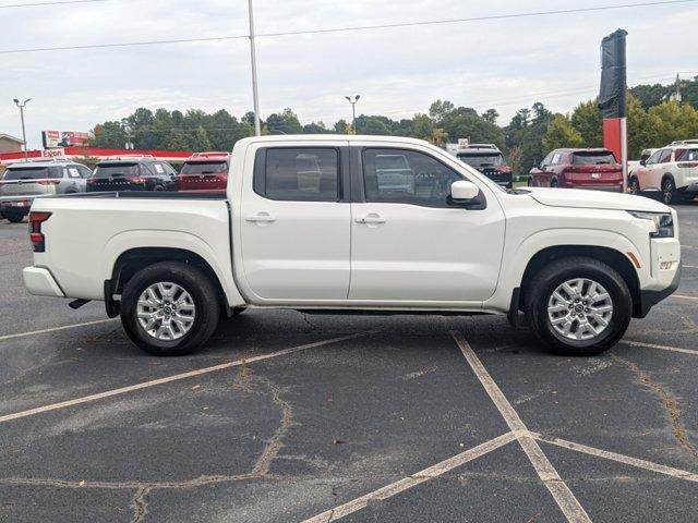
{"type": "Polygon", "coordinates": [[[84,193],[92,171],[74,161],[23,161],[8,167],[0,180],[0,215],[20,222],[34,198],[84,193]]]}

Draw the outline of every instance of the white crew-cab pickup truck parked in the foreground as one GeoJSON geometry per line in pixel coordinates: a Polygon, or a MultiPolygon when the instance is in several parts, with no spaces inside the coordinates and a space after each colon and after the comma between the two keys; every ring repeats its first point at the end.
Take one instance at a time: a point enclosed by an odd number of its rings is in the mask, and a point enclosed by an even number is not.
{"type": "Polygon", "coordinates": [[[75,299],[74,308],[104,300],[157,355],[192,352],[221,313],[252,307],[508,314],[514,325],[522,312],[553,351],[591,355],[681,277],[670,207],[626,194],[507,192],[401,137],[245,138],[227,194],[40,198],[29,227],[29,292],[75,299]]]}

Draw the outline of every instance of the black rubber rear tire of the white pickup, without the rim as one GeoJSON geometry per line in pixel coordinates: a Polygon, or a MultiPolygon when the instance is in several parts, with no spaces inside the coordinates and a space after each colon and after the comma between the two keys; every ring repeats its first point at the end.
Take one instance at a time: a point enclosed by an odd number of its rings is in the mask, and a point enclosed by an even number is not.
{"type": "Polygon", "coordinates": [[[201,269],[182,263],[163,262],[146,267],[129,280],[121,295],[121,324],[127,335],[133,343],[155,356],[191,354],[214,333],[219,314],[216,288],[208,276],[201,269]],[[179,339],[157,339],[139,323],[139,299],[149,285],[157,282],[178,284],[191,295],[195,305],[193,325],[179,339]]]}

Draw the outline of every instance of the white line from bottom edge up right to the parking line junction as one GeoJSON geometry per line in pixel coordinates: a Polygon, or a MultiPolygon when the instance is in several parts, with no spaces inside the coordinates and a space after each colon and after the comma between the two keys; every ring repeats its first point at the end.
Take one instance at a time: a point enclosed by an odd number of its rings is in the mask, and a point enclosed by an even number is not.
{"type": "Polygon", "coordinates": [[[434,477],[438,477],[448,471],[452,471],[469,461],[474,460],[476,458],[480,458],[481,455],[485,455],[493,450],[498,449],[507,443],[510,443],[516,439],[514,433],[506,433],[502,436],[491,439],[490,441],[485,441],[478,447],[473,447],[472,449],[466,450],[460,454],[454,455],[447,460],[444,460],[440,463],[436,463],[429,469],[424,469],[417,474],[411,476],[404,477],[390,485],[386,485],[383,488],[378,488],[373,492],[369,492],[360,498],[353,499],[347,503],[340,504],[339,507],[335,507],[334,509],[326,510],[325,512],[317,514],[313,518],[310,518],[303,523],[329,523],[330,521],[336,521],[341,518],[345,518],[353,512],[357,512],[361,509],[364,509],[370,501],[383,501],[384,499],[388,499],[397,494],[404,492],[417,485],[420,485],[424,482],[429,482],[434,477]]]}

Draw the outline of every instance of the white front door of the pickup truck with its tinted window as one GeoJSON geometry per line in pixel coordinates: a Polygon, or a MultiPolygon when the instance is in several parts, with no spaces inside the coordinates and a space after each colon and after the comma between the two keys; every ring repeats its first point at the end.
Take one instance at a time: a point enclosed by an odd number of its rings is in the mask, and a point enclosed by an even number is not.
{"type": "Polygon", "coordinates": [[[378,302],[489,299],[496,288],[505,233],[504,212],[490,188],[480,187],[488,199],[485,209],[449,207],[446,198],[450,183],[466,178],[464,173],[434,159],[429,149],[423,153],[394,149],[390,155],[380,149],[374,156],[407,159],[400,169],[402,177],[398,178],[394,171],[404,160],[392,160],[395,169],[382,173],[377,162],[366,158],[370,150],[363,151],[366,175],[352,179],[354,183],[358,179],[359,183],[364,181],[369,202],[351,205],[349,299],[378,302]],[[414,155],[431,158],[433,165],[414,155]],[[372,170],[377,174],[370,172],[372,170]],[[378,180],[377,193],[375,186],[371,188],[376,184],[375,179],[378,180]],[[405,196],[400,196],[401,193],[405,196]],[[429,205],[417,204],[420,198],[429,205]],[[441,205],[435,205],[440,202],[441,205]]]}

